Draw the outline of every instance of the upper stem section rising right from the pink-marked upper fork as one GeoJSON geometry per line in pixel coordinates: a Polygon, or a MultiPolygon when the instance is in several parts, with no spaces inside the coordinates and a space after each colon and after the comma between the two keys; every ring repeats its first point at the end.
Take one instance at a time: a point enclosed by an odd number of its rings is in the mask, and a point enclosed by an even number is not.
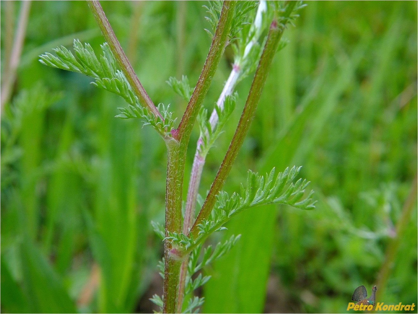
{"type": "Polygon", "coordinates": [[[178,140],[185,137],[187,143],[189,143],[191,130],[193,129],[194,122],[196,121],[196,116],[199,113],[200,106],[206,97],[210,83],[215,75],[217,65],[219,64],[224,52],[236,4],[236,1],[224,1],[221,16],[219,17],[215,35],[212,39],[212,45],[208,57],[206,58],[206,62],[200,74],[199,80],[196,83],[193,94],[191,95],[186,111],[184,112],[178,129],[175,132],[175,138],[178,140]]]}

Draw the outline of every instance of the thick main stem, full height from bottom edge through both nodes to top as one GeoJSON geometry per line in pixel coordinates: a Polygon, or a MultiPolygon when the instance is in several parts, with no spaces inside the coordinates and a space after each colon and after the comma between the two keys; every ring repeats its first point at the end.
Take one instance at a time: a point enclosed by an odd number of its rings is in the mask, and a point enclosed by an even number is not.
{"type": "MultiPolygon", "coordinates": [[[[235,1],[225,1],[215,31],[209,54],[199,80],[191,96],[178,129],[173,130],[173,139],[167,145],[166,185],[166,236],[168,232],[181,232],[181,195],[183,191],[184,164],[191,130],[197,113],[206,96],[214,73],[222,57],[227,35],[231,28],[235,1]]],[[[164,242],[164,296],[163,312],[174,313],[178,309],[178,288],[181,260],[170,252],[168,241],[164,242]]]]}

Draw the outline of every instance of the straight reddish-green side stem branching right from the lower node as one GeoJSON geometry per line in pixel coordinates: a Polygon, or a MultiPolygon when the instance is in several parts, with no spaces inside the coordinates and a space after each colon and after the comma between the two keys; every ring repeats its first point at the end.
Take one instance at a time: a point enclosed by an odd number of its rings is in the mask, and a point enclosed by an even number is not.
{"type": "MultiPolygon", "coordinates": [[[[286,5],[285,12],[283,15],[284,18],[288,18],[290,16],[295,5],[296,2],[294,1],[291,1],[286,5]]],[[[212,208],[216,201],[215,196],[219,193],[219,190],[222,188],[227,178],[227,175],[229,174],[229,171],[232,167],[232,164],[235,158],[237,157],[238,151],[241,148],[245,135],[247,134],[247,131],[250,127],[255,109],[257,108],[257,103],[260,99],[260,95],[263,90],[265,80],[267,78],[270,64],[273,61],[273,57],[275,55],[275,52],[277,51],[278,44],[284,29],[285,26],[283,24],[278,23],[277,19],[274,19],[273,22],[270,24],[270,30],[268,32],[267,41],[263,49],[263,54],[260,58],[257,71],[255,72],[255,76],[250,88],[250,93],[245,103],[244,110],[242,111],[237,130],[235,131],[232,142],[229,145],[227,154],[225,155],[225,158],[221,164],[221,167],[219,168],[216,178],[212,183],[212,187],[209,190],[209,194],[206,197],[206,200],[201,208],[201,211],[199,212],[199,215],[196,218],[196,221],[194,222],[189,232],[189,235],[192,234],[194,237],[197,237],[199,232],[197,225],[200,224],[203,221],[203,219],[206,219],[212,211],[212,208]]]]}

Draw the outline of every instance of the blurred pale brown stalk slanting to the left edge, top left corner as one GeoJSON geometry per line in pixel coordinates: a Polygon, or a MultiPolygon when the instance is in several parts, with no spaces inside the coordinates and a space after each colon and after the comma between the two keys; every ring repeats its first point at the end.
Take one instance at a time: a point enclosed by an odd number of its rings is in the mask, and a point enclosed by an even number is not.
{"type": "Polygon", "coordinates": [[[5,76],[5,81],[1,88],[0,95],[0,111],[3,111],[3,107],[6,101],[10,97],[13,83],[16,78],[16,70],[18,68],[20,54],[22,53],[23,41],[25,40],[26,34],[26,25],[28,24],[29,9],[31,8],[31,1],[23,1],[20,7],[18,28],[15,33],[15,38],[13,40],[13,47],[10,53],[10,59],[7,60],[7,73],[5,76]]]}

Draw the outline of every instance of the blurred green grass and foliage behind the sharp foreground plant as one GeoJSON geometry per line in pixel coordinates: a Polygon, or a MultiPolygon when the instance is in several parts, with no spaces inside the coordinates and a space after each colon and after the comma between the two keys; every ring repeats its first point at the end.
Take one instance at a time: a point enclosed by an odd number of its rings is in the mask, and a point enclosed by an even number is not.
{"type": "MultiPolygon", "coordinates": [[[[202,5],[102,3],[153,102],[171,103],[179,118],[186,103],[165,81],[197,81],[210,45],[202,5]]],[[[1,1],[2,93],[21,6],[1,1]]],[[[210,239],[242,234],[206,270],[202,312],[345,312],[357,286],[370,293],[385,276],[377,301],[417,304],[417,3],[308,2],[300,15],[285,32],[289,44],[274,59],[225,190],[239,190],[247,169],[302,165],[318,203],[314,211],[255,208],[210,239]]],[[[151,312],[148,298],[162,292],[163,245],[150,221],[164,218],[165,145],[139,121],[114,118],[121,98],[37,61],[74,38],[95,49],[104,41],[87,3],[31,3],[1,114],[1,311],[151,312]]],[[[227,48],[207,108],[232,61],[227,48]]],[[[251,80],[237,87],[202,195],[251,80]]],[[[186,184],[198,136],[196,126],[186,184]]]]}

